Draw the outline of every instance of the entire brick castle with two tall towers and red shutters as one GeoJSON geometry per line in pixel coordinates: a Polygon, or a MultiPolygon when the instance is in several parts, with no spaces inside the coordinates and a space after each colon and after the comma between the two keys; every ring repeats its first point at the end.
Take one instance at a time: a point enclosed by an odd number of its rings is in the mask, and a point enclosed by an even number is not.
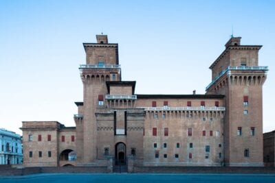
{"type": "Polygon", "coordinates": [[[83,43],[76,127],[23,121],[25,167],[263,166],[261,45],[230,38],[205,95],[137,95],[122,81],[118,44],[96,39],[83,43]]]}

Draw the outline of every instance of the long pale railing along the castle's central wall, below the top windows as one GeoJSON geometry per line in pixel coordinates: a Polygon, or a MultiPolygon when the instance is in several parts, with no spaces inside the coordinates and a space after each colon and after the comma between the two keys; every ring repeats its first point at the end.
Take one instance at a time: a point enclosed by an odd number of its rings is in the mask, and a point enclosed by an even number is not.
{"type": "Polygon", "coordinates": [[[153,111],[160,111],[160,110],[213,110],[213,111],[225,111],[225,107],[138,107],[144,108],[144,110],[153,110],[153,111]]]}

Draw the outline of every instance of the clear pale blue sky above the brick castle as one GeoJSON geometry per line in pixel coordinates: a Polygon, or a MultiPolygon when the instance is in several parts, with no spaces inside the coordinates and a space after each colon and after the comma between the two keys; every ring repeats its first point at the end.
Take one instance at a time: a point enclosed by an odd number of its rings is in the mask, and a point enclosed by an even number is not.
{"type": "Polygon", "coordinates": [[[275,130],[275,1],[0,0],[0,127],[21,121],[74,126],[83,101],[83,42],[119,44],[122,80],[137,94],[204,94],[209,66],[233,34],[263,45],[263,132],[275,130]]]}

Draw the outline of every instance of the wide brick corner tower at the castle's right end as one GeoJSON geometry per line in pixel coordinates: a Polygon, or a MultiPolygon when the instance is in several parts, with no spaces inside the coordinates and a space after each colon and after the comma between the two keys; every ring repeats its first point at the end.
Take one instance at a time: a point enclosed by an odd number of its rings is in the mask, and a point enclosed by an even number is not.
{"type": "Polygon", "coordinates": [[[259,66],[261,45],[241,45],[232,37],[215,60],[207,94],[225,95],[224,162],[263,166],[263,93],[267,66],[259,66]]]}

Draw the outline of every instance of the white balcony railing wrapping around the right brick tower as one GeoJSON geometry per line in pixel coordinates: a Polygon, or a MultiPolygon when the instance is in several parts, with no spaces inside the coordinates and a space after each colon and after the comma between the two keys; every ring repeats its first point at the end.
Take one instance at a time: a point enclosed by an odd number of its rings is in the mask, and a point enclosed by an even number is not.
{"type": "Polygon", "coordinates": [[[221,71],[221,73],[219,73],[219,75],[215,77],[208,86],[206,86],[206,90],[208,90],[214,82],[217,82],[217,80],[219,80],[219,78],[227,71],[268,71],[268,66],[228,66],[221,71]]]}

